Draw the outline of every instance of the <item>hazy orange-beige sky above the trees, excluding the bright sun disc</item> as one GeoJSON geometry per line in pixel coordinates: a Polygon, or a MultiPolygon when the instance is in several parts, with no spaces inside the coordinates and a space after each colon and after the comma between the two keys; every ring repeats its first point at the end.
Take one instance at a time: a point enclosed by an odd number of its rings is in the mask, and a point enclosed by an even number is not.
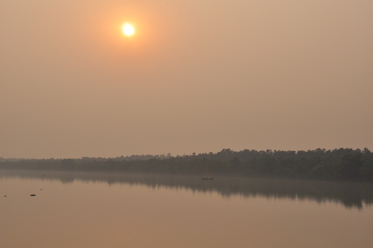
{"type": "Polygon", "coordinates": [[[1,0],[0,156],[373,149],[372,13],[371,0],[1,0]]]}

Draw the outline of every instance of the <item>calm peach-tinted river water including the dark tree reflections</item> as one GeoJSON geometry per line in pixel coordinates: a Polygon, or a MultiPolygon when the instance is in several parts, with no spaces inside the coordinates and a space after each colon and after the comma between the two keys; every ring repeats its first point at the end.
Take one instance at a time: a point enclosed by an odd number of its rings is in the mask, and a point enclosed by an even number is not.
{"type": "Polygon", "coordinates": [[[0,170],[0,247],[372,247],[364,184],[0,170]]]}

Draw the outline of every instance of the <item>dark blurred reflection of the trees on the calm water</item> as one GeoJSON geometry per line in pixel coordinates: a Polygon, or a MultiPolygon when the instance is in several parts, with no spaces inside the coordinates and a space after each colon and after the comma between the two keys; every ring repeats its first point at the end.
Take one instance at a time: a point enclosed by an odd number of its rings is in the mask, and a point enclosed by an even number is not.
{"type": "Polygon", "coordinates": [[[157,189],[186,189],[193,192],[217,192],[223,197],[244,198],[266,197],[298,201],[334,202],[346,208],[362,209],[363,204],[373,205],[373,184],[304,179],[273,179],[252,177],[219,177],[216,180],[202,180],[200,175],[123,174],[97,172],[57,172],[0,170],[0,179],[20,177],[22,179],[60,180],[72,183],[74,180],[112,184],[145,185],[157,189]],[[12,174],[11,174],[12,173],[12,174]]]}

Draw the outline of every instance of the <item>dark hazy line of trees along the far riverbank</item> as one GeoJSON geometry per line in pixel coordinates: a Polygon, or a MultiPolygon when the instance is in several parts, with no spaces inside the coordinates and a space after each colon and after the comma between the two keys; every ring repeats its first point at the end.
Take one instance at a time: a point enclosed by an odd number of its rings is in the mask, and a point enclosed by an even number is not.
{"type": "Polygon", "coordinates": [[[232,151],[171,156],[132,155],[116,158],[4,159],[0,168],[27,170],[123,171],[242,175],[304,179],[373,181],[373,154],[364,148],[308,151],[232,151]]]}

